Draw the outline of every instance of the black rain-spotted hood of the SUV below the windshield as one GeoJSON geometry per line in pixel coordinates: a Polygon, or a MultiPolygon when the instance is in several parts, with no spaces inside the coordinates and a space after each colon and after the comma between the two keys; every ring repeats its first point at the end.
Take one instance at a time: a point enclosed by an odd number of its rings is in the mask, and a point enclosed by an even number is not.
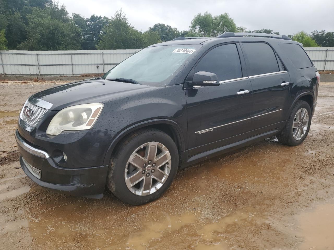
{"type": "Polygon", "coordinates": [[[131,95],[151,88],[157,87],[103,79],[89,79],[46,89],[33,96],[51,103],[50,110],[61,110],[78,104],[103,103],[120,95],[131,95]]]}

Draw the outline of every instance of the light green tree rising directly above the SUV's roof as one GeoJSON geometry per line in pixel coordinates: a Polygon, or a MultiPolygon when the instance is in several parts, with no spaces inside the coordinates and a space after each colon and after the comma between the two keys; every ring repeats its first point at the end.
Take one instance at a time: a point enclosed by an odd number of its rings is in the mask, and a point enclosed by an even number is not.
{"type": "Polygon", "coordinates": [[[198,34],[199,36],[218,36],[225,32],[244,31],[244,27],[237,27],[233,19],[227,14],[212,16],[209,12],[198,13],[191,21],[190,31],[187,36],[198,34]]]}

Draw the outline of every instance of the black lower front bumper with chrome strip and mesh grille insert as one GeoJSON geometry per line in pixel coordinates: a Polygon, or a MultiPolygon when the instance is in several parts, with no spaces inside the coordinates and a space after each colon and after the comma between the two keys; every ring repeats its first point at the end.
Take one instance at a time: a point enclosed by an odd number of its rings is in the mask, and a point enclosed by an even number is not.
{"type": "Polygon", "coordinates": [[[21,167],[35,183],[65,194],[102,198],[108,165],[84,168],[60,167],[54,163],[48,152],[26,142],[17,130],[15,134],[21,154],[21,167]],[[40,176],[31,170],[31,166],[40,170],[40,176]]]}

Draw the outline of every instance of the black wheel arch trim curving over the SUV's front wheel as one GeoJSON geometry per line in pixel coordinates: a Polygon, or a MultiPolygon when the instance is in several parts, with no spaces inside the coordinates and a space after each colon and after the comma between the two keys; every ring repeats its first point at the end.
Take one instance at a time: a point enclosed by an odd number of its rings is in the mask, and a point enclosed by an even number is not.
{"type": "Polygon", "coordinates": [[[173,139],[173,141],[177,146],[177,149],[179,151],[179,163],[181,163],[181,152],[185,150],[185,143],[180,127],[177,125],[175,121],[169,119],[154,119],[140,122],[138,124],[132,125],[122,130],[110,144],[104,159],[104,165],[109,164],[111,157],[113,156],[113,154],[115,154],[118,148],[117,145],[119,143],[122,143],[122,140],[127,135],[143,128],[156,128],[168,134],[173,139]]]}

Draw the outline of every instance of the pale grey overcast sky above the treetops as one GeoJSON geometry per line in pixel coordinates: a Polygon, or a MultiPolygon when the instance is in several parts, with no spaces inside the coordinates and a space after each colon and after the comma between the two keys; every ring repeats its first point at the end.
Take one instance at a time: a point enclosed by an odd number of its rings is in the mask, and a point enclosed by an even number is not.
{"type": "Polygon", "coordinates": [[[59,0],[69,14],[111,17],[122,8],[136,29],[146,31],[155,23],[188,30],[192,18],[206,10],[227,12],[237,26],[247,30],[272,29],[280,34],[304,30],[334,31],[334,0],[59,0]]]}

